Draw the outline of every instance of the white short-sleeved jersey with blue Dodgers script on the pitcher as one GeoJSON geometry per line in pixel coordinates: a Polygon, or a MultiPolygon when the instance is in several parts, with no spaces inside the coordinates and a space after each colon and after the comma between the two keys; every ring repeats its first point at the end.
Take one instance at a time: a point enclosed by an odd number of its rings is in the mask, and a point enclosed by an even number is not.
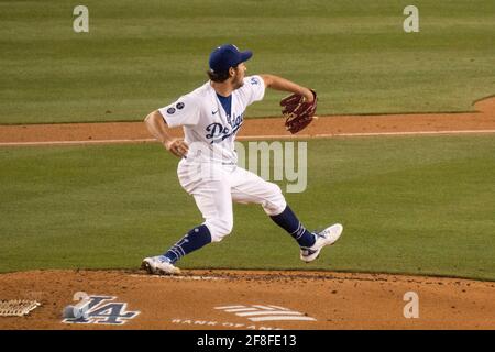
{"type": "Polygon", "coordinates": [[[235,135],[244,121],[245,109],[262,100],[264,94],[263,78],[244,77],[244,85],[232,91],[231,114],[228,116],[207,81],[158,111],[168,127],[183,127],[185,142],[189,145],[187,162],[235,164],[235,135]]]}

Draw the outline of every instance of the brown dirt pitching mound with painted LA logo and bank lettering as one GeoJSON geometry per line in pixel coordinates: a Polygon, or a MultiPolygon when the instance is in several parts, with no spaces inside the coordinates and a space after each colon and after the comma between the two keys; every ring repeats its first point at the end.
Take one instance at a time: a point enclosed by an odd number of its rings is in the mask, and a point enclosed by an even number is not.
{"type": "Polygon", "coordinates": [[[330,272],[33,271],[0,275],[32,299],[0,329],[495,329],[495,283],[330,272]],[[63,318],[86,293],[85,316],[63,318]]]}

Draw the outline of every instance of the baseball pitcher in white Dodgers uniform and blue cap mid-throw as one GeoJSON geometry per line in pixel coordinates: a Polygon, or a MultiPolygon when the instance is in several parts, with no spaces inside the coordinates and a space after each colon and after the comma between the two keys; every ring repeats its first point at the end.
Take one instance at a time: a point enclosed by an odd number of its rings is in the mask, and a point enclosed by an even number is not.
{"type": "Polygon", "coordinates": [[[176,263],[210,242],[220,242],[233,228],[232,201],[257,204],[268,217],[299,244],[304,262],[316,260],[322,248],[342,233],[339,223],[310,232],[287,205],[280,188],[237,166],[235,135],[244,111],[260,101],[266,88],[292,92],[283,113],[292,133],[304,129],[316,111],[317,94],[274,75],[245,76],[251,51],[227,44],[209,57],[209,80],[177,101],[151,112],[145,124],[167,151],[180,158],[177,175],[182,187],[194,197],[205,221],[162,255],[146,257],[142,268],[150,274],[178,274],[176,263]],[[183,127],[184,139],[170,136],[169,129],[183,127]]]}

